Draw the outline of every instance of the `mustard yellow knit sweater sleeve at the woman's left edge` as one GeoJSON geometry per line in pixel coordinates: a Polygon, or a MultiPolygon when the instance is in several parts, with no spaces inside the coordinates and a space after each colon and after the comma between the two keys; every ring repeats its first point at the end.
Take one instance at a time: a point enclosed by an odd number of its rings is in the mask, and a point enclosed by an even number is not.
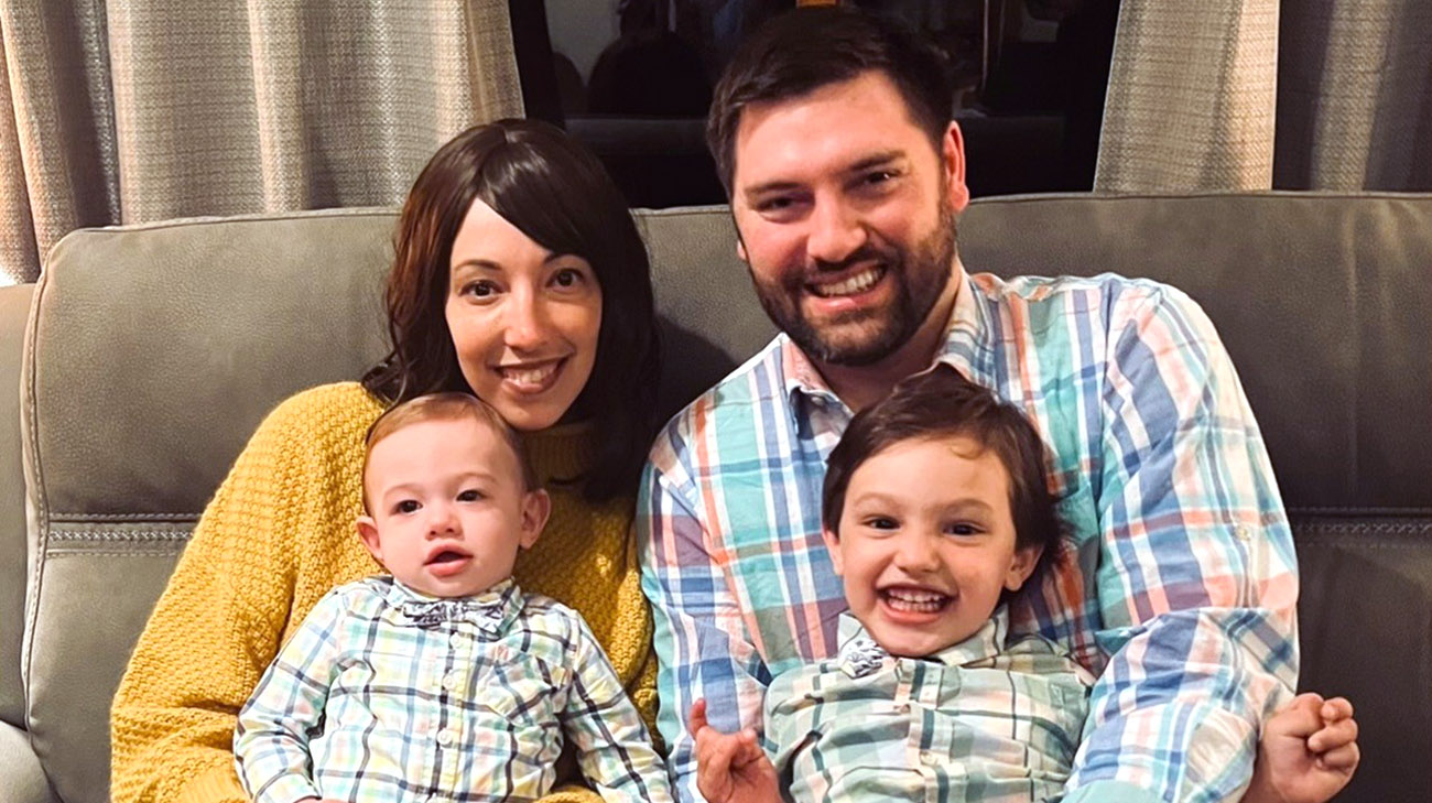
{"type": "Polygon", "coordinates": [[[315,442],[325,432],[316,424],[358,409],[322,391],[263,421],[160,595],[110,713],[115,803],[248,803],[233,766],[236,714],[278,653],[294,604],[292,540],[319,525],[331,508],[319,497],[334,494],[344,469],[334,458],[342,447],[315,442]]]}

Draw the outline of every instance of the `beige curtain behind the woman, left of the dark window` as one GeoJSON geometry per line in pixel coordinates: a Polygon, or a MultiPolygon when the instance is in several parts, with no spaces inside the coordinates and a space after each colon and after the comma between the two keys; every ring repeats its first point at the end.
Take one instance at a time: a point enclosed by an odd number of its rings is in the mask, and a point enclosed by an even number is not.
{"type": "Polygon", "coordinates": [[[398,203],[523,113],[504,0],[0,0],[0,275],[80,226],[398,203]]]}

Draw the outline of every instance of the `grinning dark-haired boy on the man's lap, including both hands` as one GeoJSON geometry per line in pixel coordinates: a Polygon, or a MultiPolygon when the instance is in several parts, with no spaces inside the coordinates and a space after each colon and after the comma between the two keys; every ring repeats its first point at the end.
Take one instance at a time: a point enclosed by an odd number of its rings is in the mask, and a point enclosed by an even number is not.
{"type": "MultiPolygon", "coordinates": [[[[937,366],[853,418],[823,487],[845,584],[839,656],[778,676],[765,741],[692,709],[709,803],[1053,800],[1093,677],[1060,647],[1008,633],[1007,601],[1060,560],[1034,427],[937,366]]],[[[1348,782],[1345,700],[1303,696],[1267,723],[1244,800],[1319,803],[1348,782]]]]}

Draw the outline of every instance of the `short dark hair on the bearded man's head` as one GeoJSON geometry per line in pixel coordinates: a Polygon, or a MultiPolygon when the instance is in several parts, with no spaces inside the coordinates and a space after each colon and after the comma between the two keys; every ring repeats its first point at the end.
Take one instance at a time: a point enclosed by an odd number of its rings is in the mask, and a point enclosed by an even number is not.
{"type": "Polygon", "coordinates": [[[954,84],[949,60],[928,40],[896,20],[843,7],[798,9],[756,30],[726,66],[706,117],[706,145],[726,193],[746,106],[799,97],[872,70],[889,77],[938,152],[954,84]]]}

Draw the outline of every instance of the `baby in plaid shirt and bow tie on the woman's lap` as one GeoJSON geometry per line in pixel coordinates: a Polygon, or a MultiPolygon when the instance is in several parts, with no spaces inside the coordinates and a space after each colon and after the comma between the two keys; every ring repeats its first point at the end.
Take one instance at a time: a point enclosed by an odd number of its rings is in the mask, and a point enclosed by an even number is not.
{"type": "Polygon", "coordinates": [[[606,800],[670,800],[666,767],[581,617],[511,578],[550,500],[474,396],[368,432],[358,535],[390,573],[308,614],[239,713],[256,803],[533,800],[571,740],[606,800]]]}

